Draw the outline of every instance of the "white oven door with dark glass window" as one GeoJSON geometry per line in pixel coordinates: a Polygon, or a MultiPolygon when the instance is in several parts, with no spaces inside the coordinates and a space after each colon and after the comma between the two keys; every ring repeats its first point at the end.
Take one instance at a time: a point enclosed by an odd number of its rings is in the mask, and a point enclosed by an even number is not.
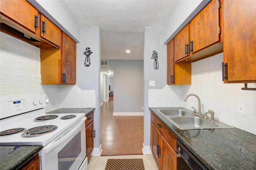
{"type": "Polygon", "coordinates": [[[41,170],[78,170],[86,164],[84,117],[40,151],[41,170]]]}

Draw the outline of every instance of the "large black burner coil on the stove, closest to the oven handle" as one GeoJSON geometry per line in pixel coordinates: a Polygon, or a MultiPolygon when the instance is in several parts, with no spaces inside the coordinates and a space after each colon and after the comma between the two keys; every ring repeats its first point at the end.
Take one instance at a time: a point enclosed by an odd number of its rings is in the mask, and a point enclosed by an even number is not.
{"type": "Polygon", "coordinates": [[[22,136],[39,136],[43,134],[47,134],[50,132],[53,132],[56,130],[58,127],[55,125],[44,125],[40,127],[34,127],[26,130],[25,132],[22,133],[22,136]]]}

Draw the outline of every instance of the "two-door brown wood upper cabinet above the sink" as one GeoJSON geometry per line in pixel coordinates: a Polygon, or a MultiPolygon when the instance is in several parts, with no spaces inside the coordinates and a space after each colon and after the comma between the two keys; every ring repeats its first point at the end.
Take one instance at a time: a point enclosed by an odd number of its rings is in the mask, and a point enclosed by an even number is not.
{"type": "Polygon", "coordinates": [[[221,0],[212,0],[174,37],[176,63],[198,61],[222,52],[221,29],[221,0]]]}

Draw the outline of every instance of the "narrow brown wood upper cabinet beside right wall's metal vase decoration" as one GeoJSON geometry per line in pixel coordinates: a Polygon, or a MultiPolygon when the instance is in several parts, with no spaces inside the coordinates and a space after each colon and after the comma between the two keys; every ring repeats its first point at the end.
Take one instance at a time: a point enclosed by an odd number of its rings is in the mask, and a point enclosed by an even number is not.
{"type": "Polygon", "coordinates": [[[172,39],[167,44],[167,84],[168,85],[190,85],[191,63],[175,63],[174,42],[172,39]]]}

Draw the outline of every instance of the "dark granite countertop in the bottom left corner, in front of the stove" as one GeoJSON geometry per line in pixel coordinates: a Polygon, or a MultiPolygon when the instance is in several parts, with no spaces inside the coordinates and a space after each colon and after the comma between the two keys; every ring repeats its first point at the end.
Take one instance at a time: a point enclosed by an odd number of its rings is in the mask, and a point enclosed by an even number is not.
{"type": "Polygon", "coordinates": [[[0,170],[15,170],[42,149],[41,145],[0,146],[0,170]]]}

